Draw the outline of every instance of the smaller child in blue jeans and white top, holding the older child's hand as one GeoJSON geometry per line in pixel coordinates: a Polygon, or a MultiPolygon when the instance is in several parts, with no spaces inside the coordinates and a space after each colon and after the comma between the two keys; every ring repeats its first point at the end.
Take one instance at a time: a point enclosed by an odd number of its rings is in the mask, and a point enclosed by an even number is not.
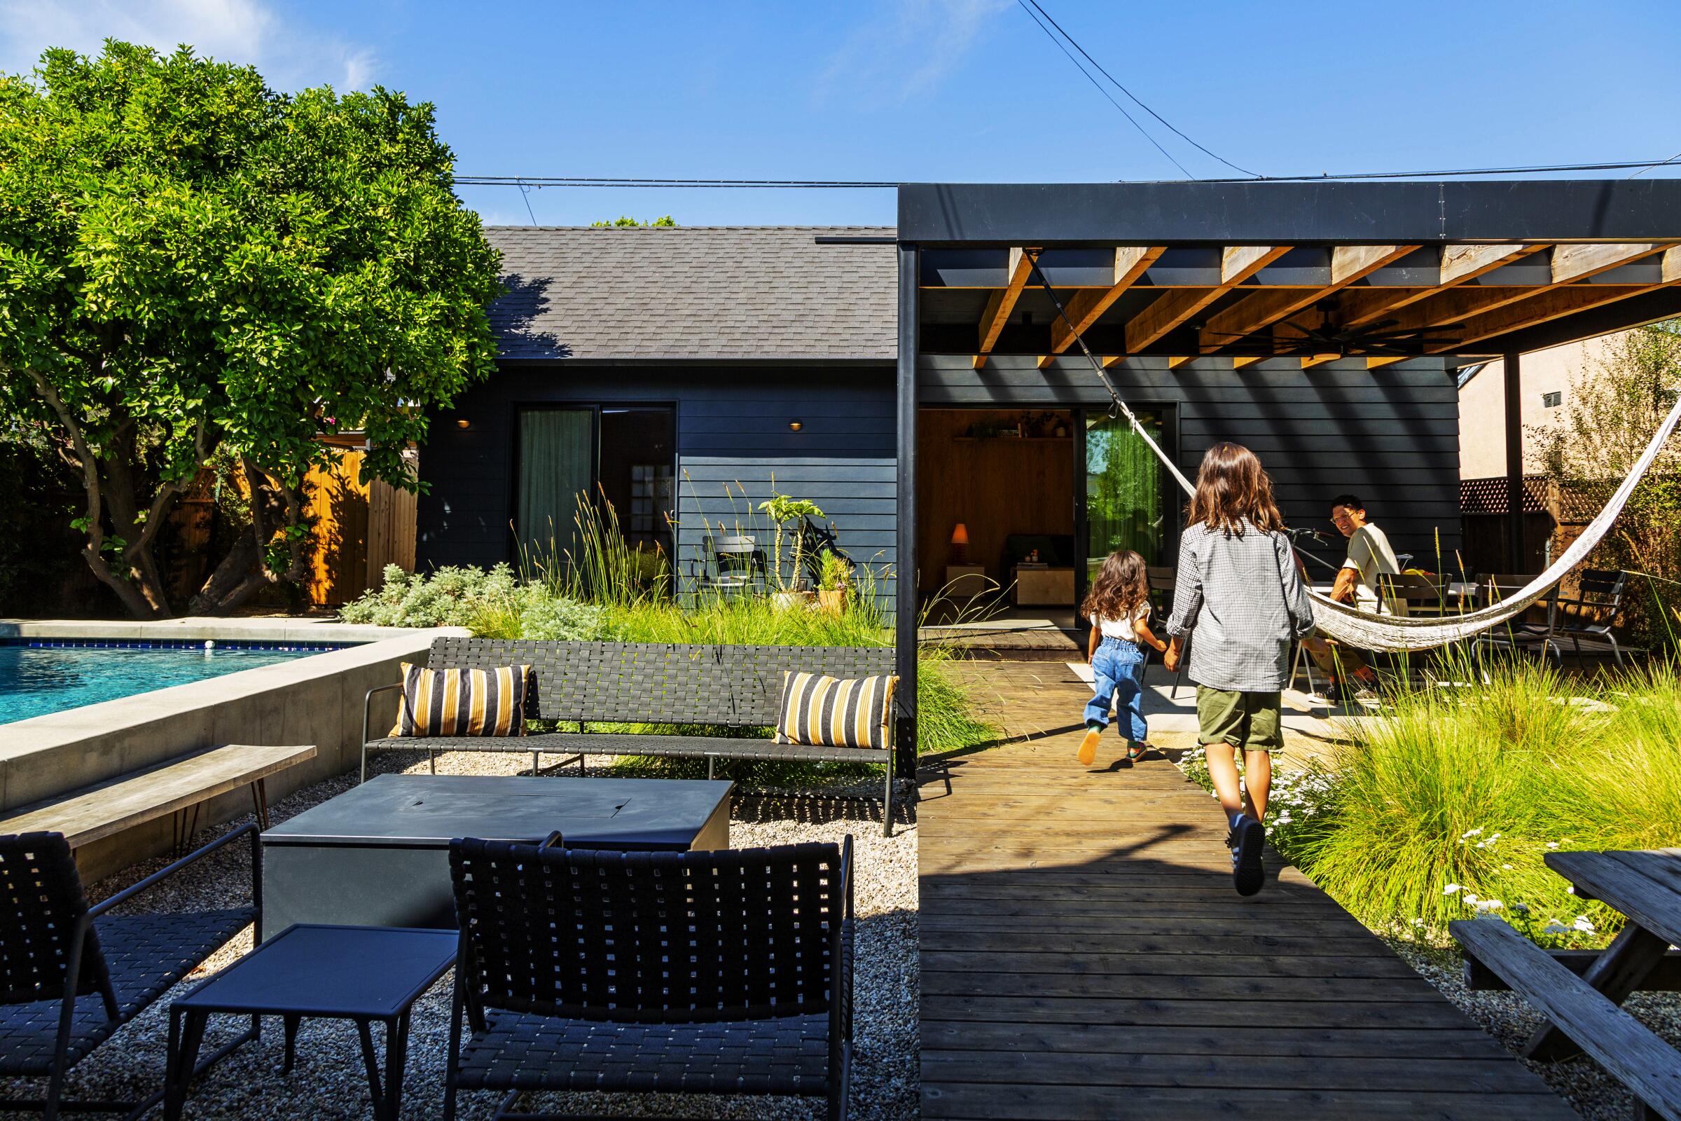
{"type": "Polygon", "coordinates": [[[1079,610],[1091,620],[1091,687],[1096,694],[1086,706],[1086,738],[1079,741],[1079,763],[1091,766],[1098,758],[1098,738],[1109,726],[1109,697],[1116,697],[1126,719],[1126,758],[1140,758],[1150,745],[1145,724],[1145,645],[1165,650],[1150,634],[1150,575],[1145,558],[1131,550],[1115,550],[1103,560],[1098,578],[1079,610]]]}

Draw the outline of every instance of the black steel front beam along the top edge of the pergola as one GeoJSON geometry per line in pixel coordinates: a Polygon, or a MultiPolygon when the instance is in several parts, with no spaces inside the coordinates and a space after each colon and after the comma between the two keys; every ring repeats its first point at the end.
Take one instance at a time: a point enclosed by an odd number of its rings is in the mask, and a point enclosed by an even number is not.
{"type": "Polygon", "coordinates": [[[1306,245],[1681,239],[1681,180],[903,183],[931,245],[1306,245]]]}

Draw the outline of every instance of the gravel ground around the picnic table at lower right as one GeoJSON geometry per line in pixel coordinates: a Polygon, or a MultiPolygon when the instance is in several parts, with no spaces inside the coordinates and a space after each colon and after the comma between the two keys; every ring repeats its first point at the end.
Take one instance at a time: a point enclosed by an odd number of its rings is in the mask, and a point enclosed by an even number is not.
{"type": "MultiPolygon", "coordinates": [[[[1540,1013],[1523,997],[1466,988],[1457,950],[1395,938],[1385,941],[1407,965],[1459,1005],[1461,1012],[1511,1050],[1513,1057],[1540,1027],[1540,1013]]],[[[1681,1047],[1681,993],[1634,993],[1622,1007],[1673,1047],[1681,1047]]],[[[1528,1059],[1518,1062],[1547,1079],[1547,1084],[1589,1121],[1626,1121],[1634,1114],[1634,1096],[1585,1055],[1563,1062],[1528,1059]]]]}

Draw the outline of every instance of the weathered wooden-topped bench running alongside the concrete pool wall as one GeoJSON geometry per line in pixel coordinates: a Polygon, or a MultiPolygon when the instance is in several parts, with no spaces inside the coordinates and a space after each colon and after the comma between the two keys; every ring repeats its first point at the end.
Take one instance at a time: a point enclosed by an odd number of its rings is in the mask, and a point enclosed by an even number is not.
{"type": "Polygon", "coordinates": [[[79,849],[168,813],[180,854],[198,825],[198,807],[239,787],[250,787],[257,827],[267,829],[264,780],[314,755],[314,745],[210,748],[15,810],[0,817],[0,834],[62,834],[71,849],[79,849]]]}

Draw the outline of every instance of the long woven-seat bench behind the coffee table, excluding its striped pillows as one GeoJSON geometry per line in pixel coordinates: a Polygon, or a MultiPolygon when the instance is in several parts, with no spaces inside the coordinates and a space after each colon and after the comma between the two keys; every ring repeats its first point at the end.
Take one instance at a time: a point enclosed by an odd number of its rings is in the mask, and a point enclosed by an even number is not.
{"type": "MultiPolygon", "coordinates": [[[[375,694],[363,709],[361,778],[368,751],[425,751],[437,773],[439,751],[530,753],[531,771],[543,755],[566,756],[583,770],[587,755],[704,758],[711,776],[716,760],[783,760],[800,763],[874,763],[886,768],[883,827],[893,834],[893,743],[876,748],[822,748],[743,736],[772,728],[782,703],[787,671],[829,677],[867,677],[894,672],[893,647],[682,645],[651,642],[541,642],[531,639],[435,639],[429,669],[496,669],[531,666],[535,687],[526,719],[575,724],[577,729],[528,736],[370,736],[375,694]],[[588,729],[588,724],[664,724],[671,734],[627,734],[588,729]],[[723,728],[725,734],[693,734],[693,726],[723,728]]],[[[896,699],[896,714],[904,711],[896,699]]]]}

